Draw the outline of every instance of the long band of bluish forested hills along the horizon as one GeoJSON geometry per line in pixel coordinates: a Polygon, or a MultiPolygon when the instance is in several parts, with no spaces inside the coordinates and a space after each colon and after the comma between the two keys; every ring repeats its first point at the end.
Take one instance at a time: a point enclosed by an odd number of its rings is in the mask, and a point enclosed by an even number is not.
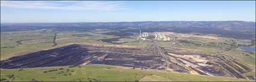
{"type": "MultiPolygon", "coordinates": [[[[243,21],[166,21],[166,22],[92,22],[92,23],[2,23],[1,32],[54,28],[57,31],[90,31],[93,29],[126,29],[125,32],[169,31],[216,34],[238,39],[255,38],[255,22],[243,21]],[[133,29],[129,29],[129,28],[133,29]],[[86,29],[84,29],[86,28],[86,29]]],[[[123,30],[122,30],[123,31],[123,30]]]]}

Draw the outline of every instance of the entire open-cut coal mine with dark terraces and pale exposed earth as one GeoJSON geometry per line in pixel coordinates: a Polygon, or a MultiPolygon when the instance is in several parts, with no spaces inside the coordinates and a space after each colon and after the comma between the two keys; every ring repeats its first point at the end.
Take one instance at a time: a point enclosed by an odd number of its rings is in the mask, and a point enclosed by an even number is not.
{"type": "Polygon", "coordinates": [[[210,55],[180,49],[168,50],[153,41],[149,41],[148,45],[149,48],[145,49],[71,44],[10,57],[1,61],[1,68],[102,64],[251,79],[242,75],[245,72],[250,72],[251,69],[236,62],[236,59],[230,56],[210,55]]]}

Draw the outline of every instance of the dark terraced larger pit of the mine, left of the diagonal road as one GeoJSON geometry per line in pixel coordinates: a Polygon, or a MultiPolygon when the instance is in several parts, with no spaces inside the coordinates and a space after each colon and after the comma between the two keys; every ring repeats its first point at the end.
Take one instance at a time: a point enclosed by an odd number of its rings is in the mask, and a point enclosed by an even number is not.
{"type": "MultiPolygon", "coordinates": [[[[154,51],[139,48],[106,47],[72,44],[11,57],[1,61],[1,68],[36,68],[83,64],[105,64],[154,68],[163,64],[162,57],[154,51]]],[[[158,68],[155,68],[158,69],[158,68]]]]}

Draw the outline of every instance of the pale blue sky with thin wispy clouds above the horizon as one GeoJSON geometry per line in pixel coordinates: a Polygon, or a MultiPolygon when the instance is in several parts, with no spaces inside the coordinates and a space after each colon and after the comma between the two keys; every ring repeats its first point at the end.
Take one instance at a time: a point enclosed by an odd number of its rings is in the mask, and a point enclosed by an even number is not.
{"type": "Polygon", "coordinates": [[[1,1],[1,23],[255,22],[255,1],[1,1]]]}

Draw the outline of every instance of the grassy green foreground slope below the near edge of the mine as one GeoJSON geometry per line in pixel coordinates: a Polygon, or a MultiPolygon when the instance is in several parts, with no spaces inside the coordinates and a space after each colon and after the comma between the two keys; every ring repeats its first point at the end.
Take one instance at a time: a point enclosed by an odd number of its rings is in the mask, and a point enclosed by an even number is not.
{"type": "Polygon", "coordinates": [[[47,68],[1,69],[1,80],[4,81],[139,81],[142,78],[143,81],[246,81],[229,77],[210,77],[109,65],[84,65],[73,68],[56,66],[47,68]],[[58,70],[44,72],[53,69],[58,70]],[[154,78],[149,79],[152,76],[154,78]]]}

